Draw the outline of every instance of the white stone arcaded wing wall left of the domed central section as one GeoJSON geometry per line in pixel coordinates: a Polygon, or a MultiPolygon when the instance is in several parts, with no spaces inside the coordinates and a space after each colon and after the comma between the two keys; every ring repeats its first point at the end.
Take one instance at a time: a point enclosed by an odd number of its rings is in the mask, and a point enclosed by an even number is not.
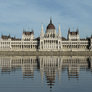
{"type": "Polygon", "coordinates": [[[36,51],[37,40],[24,41],[24,40],[0,40],[0,51],[36,51]]]}

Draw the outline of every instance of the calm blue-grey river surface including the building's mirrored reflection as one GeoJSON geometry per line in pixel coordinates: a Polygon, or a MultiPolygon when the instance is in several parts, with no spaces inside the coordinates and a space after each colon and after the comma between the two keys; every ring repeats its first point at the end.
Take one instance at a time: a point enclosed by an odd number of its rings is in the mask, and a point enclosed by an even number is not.
{"type": "Polygon", "coordinates": [[[92,57],[0,57],[0,92],[61,91],[92,92],[92,57]]]}

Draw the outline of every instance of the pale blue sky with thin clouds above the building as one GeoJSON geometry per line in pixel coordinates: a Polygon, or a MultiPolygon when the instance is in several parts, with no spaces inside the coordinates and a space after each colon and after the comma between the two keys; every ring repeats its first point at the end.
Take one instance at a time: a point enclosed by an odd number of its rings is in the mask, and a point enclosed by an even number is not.
{"type": "Polygon", "coordinates": [[[68,29],[79,29],[80,37],[92,34],[92,0],[0,0],[0,35],[22,37],[23,29],[40,36],[50,17],[58,32],[67,37],[68,29]]]}

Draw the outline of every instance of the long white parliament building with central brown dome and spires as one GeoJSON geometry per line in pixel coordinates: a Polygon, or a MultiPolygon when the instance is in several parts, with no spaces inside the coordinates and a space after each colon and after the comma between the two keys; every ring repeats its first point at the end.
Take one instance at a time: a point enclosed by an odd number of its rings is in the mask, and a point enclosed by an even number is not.
{"type": "Polygon", "coordinates": [[[61,34],[59,25],[58,33],[50,19],[50,23],[44,32],[41,27],[40,37],[34,37],[34,31],[23,30],[22,38],[2,35],[0,39],[0,51],[92,51],[92,36],[80,39],[79,30],[68,30],[67,38],[61,34]]]}

